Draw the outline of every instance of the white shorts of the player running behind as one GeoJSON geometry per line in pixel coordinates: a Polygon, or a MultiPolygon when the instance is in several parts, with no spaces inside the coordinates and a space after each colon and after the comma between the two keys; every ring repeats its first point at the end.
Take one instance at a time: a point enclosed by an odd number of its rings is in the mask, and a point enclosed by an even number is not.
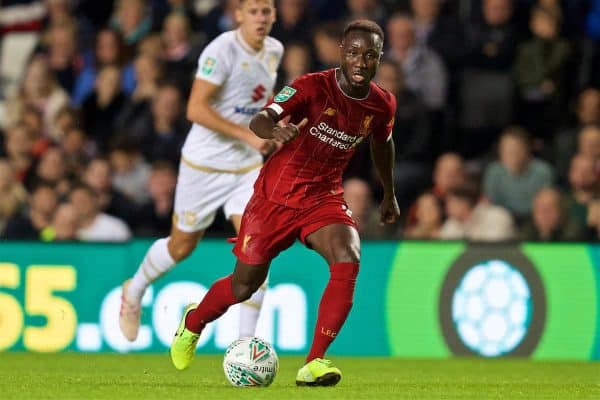
{"type": "Polygon", "coordinates": [[[223,207],[225,217],[242,215],[254,192],[260,166],[243,173],[207,172],[179,163],[173,223],[184,232],[208,228],[223,207]]]}

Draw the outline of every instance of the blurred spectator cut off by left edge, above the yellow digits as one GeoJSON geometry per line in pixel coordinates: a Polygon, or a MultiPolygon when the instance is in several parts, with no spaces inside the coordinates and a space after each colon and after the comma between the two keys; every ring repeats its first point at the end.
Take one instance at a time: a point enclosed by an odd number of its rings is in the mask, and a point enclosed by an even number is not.
{"type": "Polygon", "coordinates": [[[20,213],[27,204],[27,192],[16,179],[15,173],[5,158],[0,158],[0,232],[13,215],[20,213]]]}

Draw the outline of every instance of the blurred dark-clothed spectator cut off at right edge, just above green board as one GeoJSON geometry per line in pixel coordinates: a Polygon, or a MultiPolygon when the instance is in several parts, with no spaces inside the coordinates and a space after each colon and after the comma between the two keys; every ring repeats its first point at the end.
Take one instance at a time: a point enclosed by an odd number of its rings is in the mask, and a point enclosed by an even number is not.
{"type": "Polygon", "coordinates": [[[567,211],[569,218],[580,227],[586,225],[587,208],[599,194],[596,166],[597,160],[585,154],[577,154],[571,160],[567,211]]]}

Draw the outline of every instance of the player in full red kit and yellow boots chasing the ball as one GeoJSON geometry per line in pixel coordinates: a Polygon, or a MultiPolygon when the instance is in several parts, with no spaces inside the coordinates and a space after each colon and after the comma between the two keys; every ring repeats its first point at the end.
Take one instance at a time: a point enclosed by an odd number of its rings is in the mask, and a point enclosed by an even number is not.
{"type": "Polygon", "coordinates": [[[382,48],[383,32],[376,23],[350,23],[340,45],[339,68],[300,77],[253,117],[250,129],[257,136],[283,146],[254,185],[233,250],[233,274],[216,281],[197,307],[184,311],[171,346],[176,368],[189,366],[206,324],[248,299],[264,282],[271,260],[299,239],[327,261],[330,278],[296,383],[331,386],[341,379],[340,370],[323,357],[352,307],[360,262],[360,239],[344,202],[342,172],[356,146],[369,137],[384,188],[381,220],[392,223],[400,213],[391,140],[396,100],[371,82],[382,48]]]}

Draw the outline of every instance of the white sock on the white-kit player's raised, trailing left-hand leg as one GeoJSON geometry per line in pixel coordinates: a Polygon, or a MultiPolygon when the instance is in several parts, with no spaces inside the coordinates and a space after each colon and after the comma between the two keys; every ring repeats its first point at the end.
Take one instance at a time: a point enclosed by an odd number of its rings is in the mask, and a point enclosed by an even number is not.
{"type": "Polygon", "coordinates": [[[146,288],[173,268],[175,260],[169,254],[168,242],[167,237],[158,239],[150,246],[127,288],[126,295],[129,299],[141,301],[146,288]]]}

